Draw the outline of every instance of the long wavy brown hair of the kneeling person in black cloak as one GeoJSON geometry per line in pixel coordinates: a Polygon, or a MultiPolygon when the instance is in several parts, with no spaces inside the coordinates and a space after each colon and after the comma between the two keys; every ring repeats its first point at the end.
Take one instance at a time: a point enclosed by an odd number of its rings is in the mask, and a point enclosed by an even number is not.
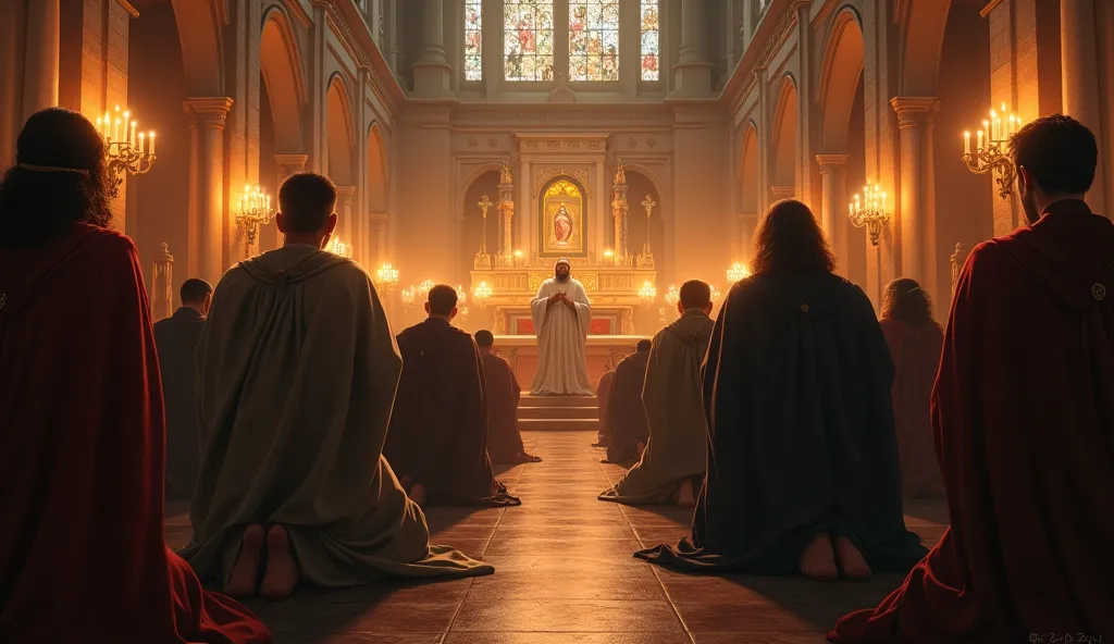
{"type": "Polygon", "coordinates": [[[759,275],[834,270],[836,255],[809,206],[795,199],[772,205],[754,237],[751,271],[759,275]]]}

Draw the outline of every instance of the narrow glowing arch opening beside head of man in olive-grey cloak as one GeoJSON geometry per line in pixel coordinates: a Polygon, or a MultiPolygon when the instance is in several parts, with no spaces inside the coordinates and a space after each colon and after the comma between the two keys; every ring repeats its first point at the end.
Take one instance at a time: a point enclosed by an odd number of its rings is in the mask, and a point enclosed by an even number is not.
{"type": "MultiPolygon", "coordinates": [[[[353,234],[359,230],[354,221],[355,212],[353,198],[355,196],[354,174],[352,172],[352,148],[353,148],[353,120],[352,101],[348,85],[341,75],[334,75],[329,81],[329,90],[325,95],[325,126],[328,153],[325,159],[328,169],[325,174],[336,184],[339,198],[336,199],[336,214],[340,222],[336,224],[336,234],[345,244],[354,241],[353,234]]],[[[355,248],[359,255],[368,253],[368,248],[355,248]]]]}

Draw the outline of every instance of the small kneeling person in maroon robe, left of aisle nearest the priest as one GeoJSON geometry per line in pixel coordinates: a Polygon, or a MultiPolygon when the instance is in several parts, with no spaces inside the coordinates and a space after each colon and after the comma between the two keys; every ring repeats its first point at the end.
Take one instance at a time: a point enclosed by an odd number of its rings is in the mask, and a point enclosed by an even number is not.
{"type": "Polygon", "coordinates": [[[510,362],[494,351],[495,335],[490,331],[477,331],[475,338],[488,393],[488,456],[491,462],[541,462],[540,458],[526,453],[522,448],[522,436],[518,433],[518,401],[522,397],[522,388],[510,362]]]}

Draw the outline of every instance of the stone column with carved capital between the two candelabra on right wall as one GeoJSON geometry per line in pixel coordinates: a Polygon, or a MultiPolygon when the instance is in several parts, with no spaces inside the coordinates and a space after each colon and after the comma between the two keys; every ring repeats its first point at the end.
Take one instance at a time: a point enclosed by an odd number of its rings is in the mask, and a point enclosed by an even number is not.
{"type": "MultiPolygon", "coordinates": [[[[899,248],[897,275],[912,277],[937,302],[936,159],[932,150],[934,116],[940,101],[931,97],[896,97],[901,148],[899,215],[895,230],[899,248]]],[[[883,186],[885,189],[885,186],[883,186]]]]}

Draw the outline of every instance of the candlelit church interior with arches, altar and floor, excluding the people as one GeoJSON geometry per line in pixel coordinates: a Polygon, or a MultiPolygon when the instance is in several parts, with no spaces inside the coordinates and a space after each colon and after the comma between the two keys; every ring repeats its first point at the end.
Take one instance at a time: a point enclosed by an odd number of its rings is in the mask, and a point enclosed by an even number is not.
{"type": "MultiPolygon", "coordinates": [[[[187,280],[282,246],[280,186],[320,173],[339,195],[326,250],[368,272],[392,332],[456,286],[452,324],[491,331],[524,388],[544,460],[496,466],[522,506],[426,510],[433,541],[497,572],[245,602],[276,642],[823,642],[903,576],[632,557],[687,535],[693,510],[597,500],[626,471],[593,447],[598,399],[527,396],[530,303],[557,260],[592,301],[597,382],[677,320],[684,282],[711,286],[714,319],[782,199],[809,206],[876,311],[911,277],[940,324],[970,250],[1025,225],[1006,150],[1024,124],[1086,125],[1087,204],[1114,211],[1107,0],[12,0],[0,30],[4,166],[51,106],[130,144],[109,148],[113,227],[153,321],[187,280]]],[[[172,548],[188,510],[166,507],[172,548]]],[[[944,498],[903,514],[927,547],[948,526],[944,498]]]]}

